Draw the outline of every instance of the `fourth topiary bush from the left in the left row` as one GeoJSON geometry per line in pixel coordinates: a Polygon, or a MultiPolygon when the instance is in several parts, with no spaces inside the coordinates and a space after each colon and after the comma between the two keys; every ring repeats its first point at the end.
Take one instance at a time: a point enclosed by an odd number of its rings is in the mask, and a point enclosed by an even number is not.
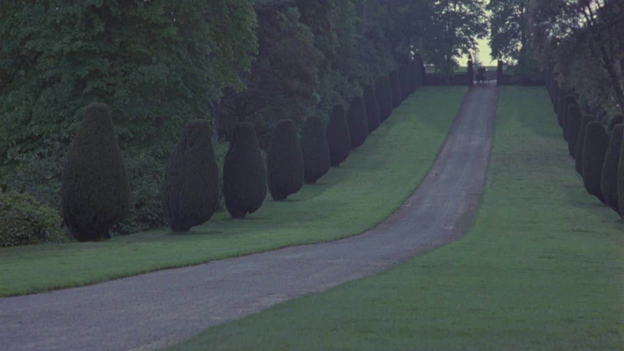
{"type": "Polygon", "coordinates": [[[295,122],[283,119],[273,131],[268,152],[268,185],[273,200],[285,200],[303,185],[303,154],[295,122]]]}

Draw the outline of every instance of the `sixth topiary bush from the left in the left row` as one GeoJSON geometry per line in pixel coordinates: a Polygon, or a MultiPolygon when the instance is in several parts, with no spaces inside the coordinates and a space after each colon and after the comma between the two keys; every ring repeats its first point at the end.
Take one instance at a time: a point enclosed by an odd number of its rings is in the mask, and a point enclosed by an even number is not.
{"type": "Polygon", "coordinates": [[[329,146],[329,164],[338,166],[349,157],[351,152],[351,135],[349,124],[344,114],[344,106],[336,104],[331,109],[331,116],[325,131],[329,146]]]}

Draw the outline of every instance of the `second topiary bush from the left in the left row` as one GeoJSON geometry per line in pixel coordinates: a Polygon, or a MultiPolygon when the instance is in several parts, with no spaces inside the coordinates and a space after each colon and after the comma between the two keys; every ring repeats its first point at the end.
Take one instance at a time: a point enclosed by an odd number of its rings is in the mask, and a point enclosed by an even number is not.
{"type": "Polygon", "coordinates": [[[219,173],[210,122],[189,121],[167,163],[163,212],[173,232],[210,220],[219,200],[219,173]]]}

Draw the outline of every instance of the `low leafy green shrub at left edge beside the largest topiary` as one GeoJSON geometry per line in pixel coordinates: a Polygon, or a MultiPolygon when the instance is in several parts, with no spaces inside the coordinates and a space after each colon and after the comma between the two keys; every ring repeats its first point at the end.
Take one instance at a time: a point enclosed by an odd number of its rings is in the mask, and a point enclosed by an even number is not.
{"type": "Polygon", "coordinates": [[[67,241],[56,210],[27,193],[0,192],[0,247],[67,241]]]}

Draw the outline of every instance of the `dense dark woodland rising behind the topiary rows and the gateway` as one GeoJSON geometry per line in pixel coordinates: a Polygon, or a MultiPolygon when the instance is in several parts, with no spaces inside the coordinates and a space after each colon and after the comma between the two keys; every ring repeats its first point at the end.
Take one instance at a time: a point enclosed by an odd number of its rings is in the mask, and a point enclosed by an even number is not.
{"type": "MultiPolygon", "coordinates": [[[[622,13],[622,0],[3,1],[0,189],[32,195],[24,202],[46,205],[46,218],[61,212],[69,146],[90,116],[85,107],[103,102],[110,111],[98,114],[110,114],[102,118],[112,120],[119,145],[111,150],[122,154],[119,177],[131,192],[127,213],[113,216],[125,217],[113,232],[163,225],[180,205],[163,202],[165,179],[182,176],[170,157],[185,155],[180,143],[193,139],[190,121],[210,131],[203,147],[215,159],[205,167],[217,167],[210,182],[218,184],[208,207],[224,207],[223,190],[247,193],[223,179],[224,161],[233,178],[245,173],[227,166],[226,154],[250,148],[255,159],[245,162],[264,179],[264,165],[280,158],[271,150],[284,148],[279,140],[300,142],[303,133],[303,147],[326,128],[328,146],[311,147],[328,149],[320,159],[336,166],[349,150],[333,148],[345,138],[352,149],[361,145],[422,84],[423,64],[451,82],[457,60],[486,36],[492,59],[514,67],[513,82],[545,77],[549,91],[577,94],[599,122],[614,124],[624,109],[622,13]],[[373,97],[379,112],[371,112],[373,97]]],[[[326,172],[318,168],[303,170],[301,182],[326,172]]],[[[269,172],[271,195],[287,196],[273,180],[269,172]]],[[[260,207],[266,187],[255,193],[253,205],[230,214],[260,207]]]]}

